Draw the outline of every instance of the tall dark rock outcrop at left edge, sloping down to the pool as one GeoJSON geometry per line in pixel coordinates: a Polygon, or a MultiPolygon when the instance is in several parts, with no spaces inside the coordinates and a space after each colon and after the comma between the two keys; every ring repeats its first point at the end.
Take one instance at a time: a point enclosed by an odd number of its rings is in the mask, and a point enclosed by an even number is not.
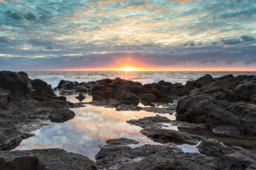
{"type": "Polygon", "coordinates": [[[0,71],[0,150],[9,150],[43,121],[64,122],[75,116],[75,105],[60,99],[46,82],[30,80],[26,73],[0,71]]]}

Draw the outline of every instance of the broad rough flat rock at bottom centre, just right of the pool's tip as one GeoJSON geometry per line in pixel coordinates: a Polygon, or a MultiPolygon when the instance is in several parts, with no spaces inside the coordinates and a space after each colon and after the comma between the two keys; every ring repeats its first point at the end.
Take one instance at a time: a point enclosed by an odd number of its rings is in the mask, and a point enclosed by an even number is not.
{"type": "Polygon", "coordinates": [[[168,145],[105,145],[96,162],[100,169],[218,169],[220,159],[168,145]]]}

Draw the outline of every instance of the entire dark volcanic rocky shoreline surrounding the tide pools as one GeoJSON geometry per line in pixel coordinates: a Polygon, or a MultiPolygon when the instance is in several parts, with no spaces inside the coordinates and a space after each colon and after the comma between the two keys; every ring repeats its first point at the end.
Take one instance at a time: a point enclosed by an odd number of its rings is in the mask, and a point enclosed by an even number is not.
{"type": "Polygon", "coordinates": [[[65,159],[75,159],[75,169],[256,168],[256,154],[253,152],[231,144],[224,146],[209,137],[205,139],[201,133],[196,133],[210,131],[216,137],[245,138],[251,142],[251,150],[255,151],[254,75],[225,75],[213,78],[207,74],[197,80],[188,81],[185,85],[163,80],[143,85],[120,78],[83,83],[61,80],[53,90],[42,80],[30,80],[24,72],[0,71],[0,169],[22,169],[15,165],[20,161],[28,162],[31,169],[57,169],[49,163],[51,158],[42,160],[42,155],[47,155],[48,152],[56,155],[53,156],[56,159],[54,162],[63,169],[70,168],[65,167],[65,164],[68,164],[65,161],[58,163],[57,155],[65,159]],[[82,94],[88,93],[92,95],[93,101],[73,104],[66,101],[65,96],[56,96],[53,90],[59,91],[62,95],[79,94],[77,99],[80,101],[85,98],[82,94]],[[139,103],[151,107],[142,107],[139,103]],[[156,115],[127,121],[143,128],[140,133],[146,137],[165,144],[131,148],[128,145],[139,141],[126,138],[112,139],[107,141],[107,145],[96,155],[96,164],[90,162],[86,156],[79,155],[78,159],[77,154],[63,150],[3,151],[11,150],[19,145],[22,139],[31,137],[32,130],[46,125],[43,121],[61,123],[70,120],[75,113],[69,108],[83,107],[83,104],[112,107],[117,111],[144,110],[170,114],[176,112],[176,120],[156,115]],[[163,129],[166,124],[180,129],[163,129]],[[201,154],[184,153],[180,148],[171,145],[197,145],[199,141],[201,143],[197,148],[201,154]],[[81,163],[82,159],[86,159],[85,164],[81,163]]]}

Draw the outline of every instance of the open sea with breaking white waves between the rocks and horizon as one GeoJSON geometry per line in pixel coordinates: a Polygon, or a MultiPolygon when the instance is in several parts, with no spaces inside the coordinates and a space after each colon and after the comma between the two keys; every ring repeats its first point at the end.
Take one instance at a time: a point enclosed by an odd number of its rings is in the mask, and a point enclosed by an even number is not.
{"type": "Polygon", "coordinates": [[[205,74],[220,77],[227,74],[256,75],[255,71],[26,71],[30,79],[42,79],[56,87],[61,79],[72,82],[89,82],[100,79],[122,78],[134,82],[158,83],[160,80],[171,83],[183,83],[196,80],[205,74]]]}

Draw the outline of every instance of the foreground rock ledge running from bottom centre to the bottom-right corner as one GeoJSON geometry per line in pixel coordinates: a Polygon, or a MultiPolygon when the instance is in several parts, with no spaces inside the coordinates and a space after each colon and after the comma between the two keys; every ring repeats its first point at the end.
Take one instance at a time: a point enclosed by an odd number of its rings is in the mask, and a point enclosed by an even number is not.
{"type": "Polygon", "coordinates": [[[207,139],[197,146],[204,154],[185,153],[169,145],[105,145],[96,155],[100,169],[249,169],[255,154],[207,139]]]}

